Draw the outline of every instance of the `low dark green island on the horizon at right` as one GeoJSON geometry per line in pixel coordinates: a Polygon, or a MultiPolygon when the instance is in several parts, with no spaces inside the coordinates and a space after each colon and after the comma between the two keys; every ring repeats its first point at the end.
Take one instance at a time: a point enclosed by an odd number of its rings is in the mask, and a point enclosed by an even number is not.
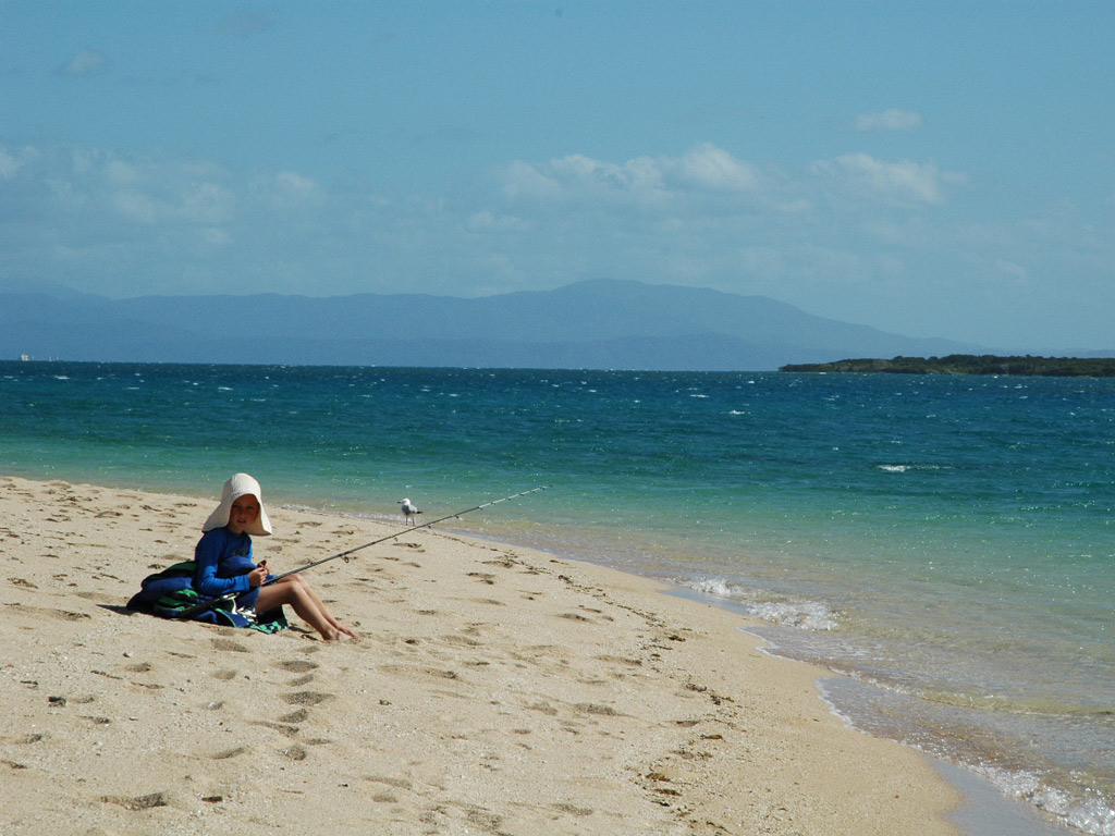
{"type": "Polygon", "coordinates": [[[949,354],[948,357],[894,357],[890,360],[859,359],[837,360],[831,363],[796,363],[782,366],[778,371],[1111,378],[1115,377],[1115,358],[949,354]]]}

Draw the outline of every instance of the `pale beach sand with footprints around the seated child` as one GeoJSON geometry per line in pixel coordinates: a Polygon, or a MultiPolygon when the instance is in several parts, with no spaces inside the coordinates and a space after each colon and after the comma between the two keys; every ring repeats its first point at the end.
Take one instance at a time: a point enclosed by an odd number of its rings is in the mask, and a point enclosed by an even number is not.
{"type": "MultiPolygon", "coordinates": [[[[216,498],[0,478],[2,836],[956,832],[827,671],[633,575],[427,528],[307,573],[356,641],[126,611],[216,498]]],[[[401,528],[268,507],[274,572],[401,528]]]]}

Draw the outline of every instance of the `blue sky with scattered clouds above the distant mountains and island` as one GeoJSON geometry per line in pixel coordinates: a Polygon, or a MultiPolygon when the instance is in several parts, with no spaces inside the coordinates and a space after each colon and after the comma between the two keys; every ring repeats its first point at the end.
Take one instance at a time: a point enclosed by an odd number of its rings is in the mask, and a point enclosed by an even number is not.
{"type": "Polygon", "coordinates": [[[0,289],[711,288],[1115,349],[1115,2],[0,0],[0,289]]]}

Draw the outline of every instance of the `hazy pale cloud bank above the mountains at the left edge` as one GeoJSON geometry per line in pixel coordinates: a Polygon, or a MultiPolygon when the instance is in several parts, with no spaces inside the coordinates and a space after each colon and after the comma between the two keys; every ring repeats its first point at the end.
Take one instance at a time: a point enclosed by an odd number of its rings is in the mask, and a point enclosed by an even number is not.
{"type": "Polygon", "coordinates": [[[274,274],[283,263],[311,261],[291,253],[329,231],[318,222],[327,202],[313,179],[291,171],[0,145],[0,206],[8,208],[0,272],[108,294],[140,282],[151,292],[211,292],[217,288],[196,276],[245,274],[245,263],[274,274]]]}

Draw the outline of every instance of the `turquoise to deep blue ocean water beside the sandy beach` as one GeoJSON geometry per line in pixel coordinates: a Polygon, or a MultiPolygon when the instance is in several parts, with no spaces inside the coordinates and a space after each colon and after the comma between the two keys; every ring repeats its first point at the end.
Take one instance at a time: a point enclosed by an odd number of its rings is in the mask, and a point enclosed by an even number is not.
{"type": "MultiPolygon", "coordinates": [[[[432,518],[763,620],[861,728],[1115,834],[1115,381],[0,363],[0,473],[432,518]]],[[[356,545],[356,544],[353,544],[356,545]]]]}

